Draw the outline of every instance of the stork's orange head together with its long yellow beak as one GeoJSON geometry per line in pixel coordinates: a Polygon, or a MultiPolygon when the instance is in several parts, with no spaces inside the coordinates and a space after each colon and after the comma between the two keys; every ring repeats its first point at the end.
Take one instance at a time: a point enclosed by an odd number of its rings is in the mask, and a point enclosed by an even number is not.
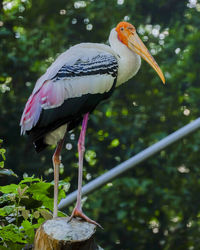
{"type": "Polygon", "coordinates": [[[147,61],[160,76],[162,82],[165,83],[165,77],[160,67],[137,35],[135,27],[128,22],[120,22],[115,28],[115,31],[117,32],[120,42],[147,61]]]}

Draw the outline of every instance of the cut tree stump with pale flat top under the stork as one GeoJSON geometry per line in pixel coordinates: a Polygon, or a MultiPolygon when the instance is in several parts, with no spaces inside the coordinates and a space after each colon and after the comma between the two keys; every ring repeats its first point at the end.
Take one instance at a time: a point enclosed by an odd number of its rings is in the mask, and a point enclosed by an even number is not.
{"type": "Polygon", "coordinates": [[[34,250],[97,250],[96,226],[79,219],[59,217],[45,221],[36,231],[34,250]]]}

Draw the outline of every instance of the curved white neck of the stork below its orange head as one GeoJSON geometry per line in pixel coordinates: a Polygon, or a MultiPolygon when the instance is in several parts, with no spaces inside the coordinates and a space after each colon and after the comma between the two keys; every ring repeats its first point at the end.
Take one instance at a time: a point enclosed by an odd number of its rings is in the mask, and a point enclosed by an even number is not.
{"type": "Polygon", "coordinates": [[[109,43],[118,55],[119,68],[116,86],[119,86],[137,74],[141,65],[141,58],[119,41],[115,29],[110,32],[109,43]]]}

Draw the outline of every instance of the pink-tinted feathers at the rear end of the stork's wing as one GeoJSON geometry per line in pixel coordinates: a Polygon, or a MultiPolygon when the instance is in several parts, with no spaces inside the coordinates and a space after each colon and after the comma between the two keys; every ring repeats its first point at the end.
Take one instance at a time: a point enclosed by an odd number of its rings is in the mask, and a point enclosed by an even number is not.
{"type": "Polygon", "coordinates": [[[65,100],[65,88],[61,82],[45,81],[41,88],[32,94],[25,106],[20,121],[21,134],[31,130],[38,122],[42,109],[60,106],[65,100]]]}

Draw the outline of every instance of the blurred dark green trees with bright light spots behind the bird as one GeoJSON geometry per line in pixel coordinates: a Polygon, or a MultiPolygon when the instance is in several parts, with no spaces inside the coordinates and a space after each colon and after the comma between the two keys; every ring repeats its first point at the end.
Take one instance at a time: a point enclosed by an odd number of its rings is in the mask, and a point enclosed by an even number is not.
{"type": "MultiPolygon", "coordinates": [[[[19,120],[35,81],[80,42],[106,42],[130,21],[155,56],[166,85],[145,62],[91,116],[85,179],[90,180],[199,116],[199,1],[0,1],[0,137],[8,168],[52,180],[52,150],[34,152],[19,120]],[[30,160],[31,159],[31,160],[30,160]],[[87,170],[87,171],[86,171],[87,170]]],[[[76,129],[63,150],[61,178],[76,188],[76,129]]],[[[163,150],[90,195],[85,210],[105,228],[106,249],[199,249],[200,133],[163,150]],[[88,212],[89,211],[89,212],[88,212]]],[[[2,184],[6,184],[7,179],[2,184]]]]}

